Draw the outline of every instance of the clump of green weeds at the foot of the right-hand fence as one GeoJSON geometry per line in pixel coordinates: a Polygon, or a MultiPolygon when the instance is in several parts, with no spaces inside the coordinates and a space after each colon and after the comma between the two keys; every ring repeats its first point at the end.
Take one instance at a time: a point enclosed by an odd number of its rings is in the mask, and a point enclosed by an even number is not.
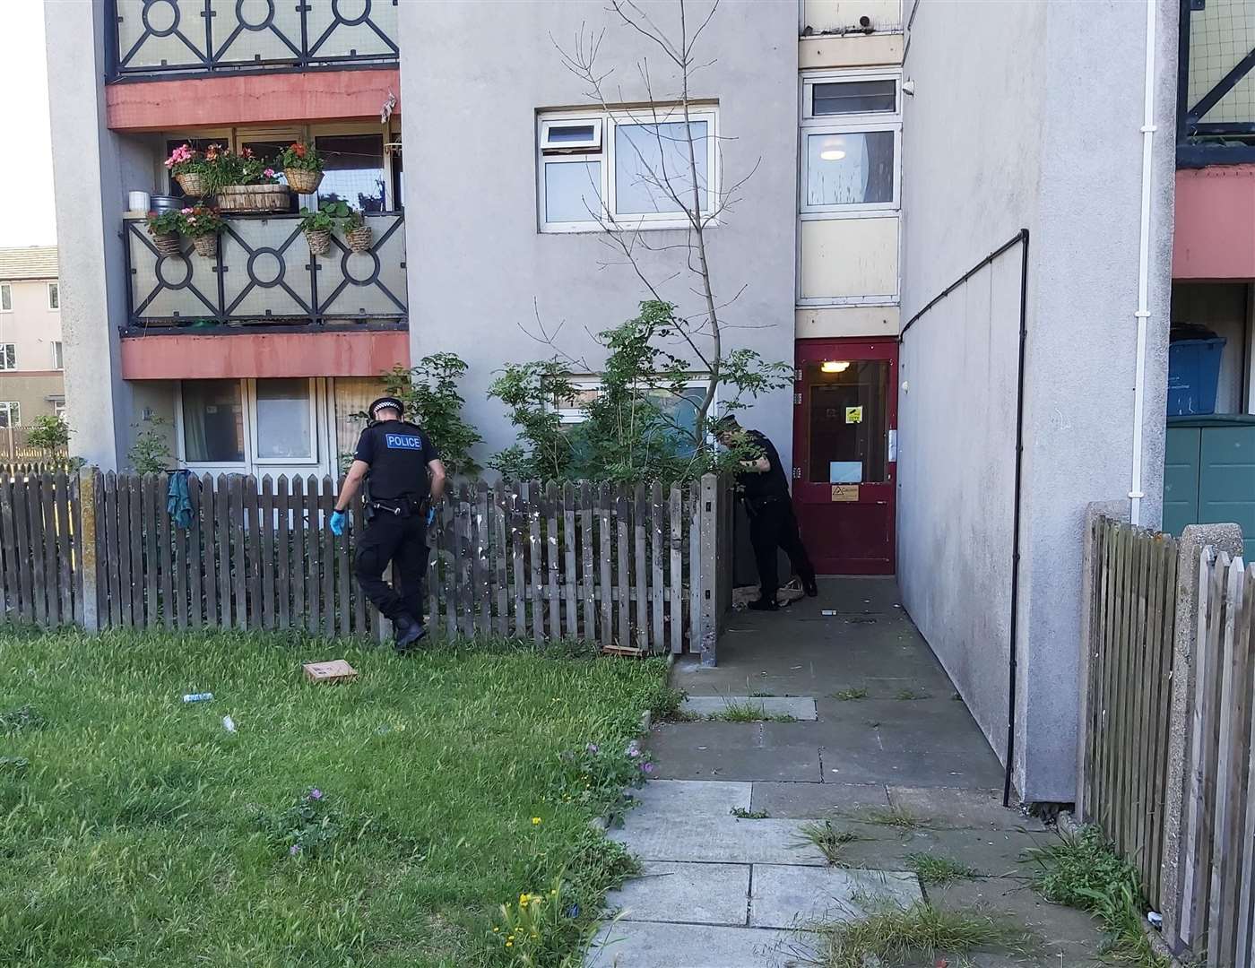
{"type": "Polygon", "coordinates": [[[1142,930],[1142,888],[1137,871],[1119,858],[1098,827],[1060,835],[1058,842],[1032,847],[1025,856],[1037,864],[1033,886],[1048,901],[1094,914],[1108,943],[1104,954],[1116,962],[1167,968],[1142,930]]]}

